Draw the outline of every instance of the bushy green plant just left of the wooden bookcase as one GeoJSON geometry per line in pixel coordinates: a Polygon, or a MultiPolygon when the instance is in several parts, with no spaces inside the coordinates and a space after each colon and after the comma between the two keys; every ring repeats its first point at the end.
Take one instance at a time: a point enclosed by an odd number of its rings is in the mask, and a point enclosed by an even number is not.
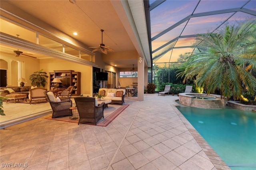
{"type": "Polygon", "coordinates": [[[43,69],[36,71],[29,76],[29,80],[31,80],[31,85],[36,85],[37,87],[45,87],[47,83],[47,78],[47,73],[44,72],[43,69]]]}

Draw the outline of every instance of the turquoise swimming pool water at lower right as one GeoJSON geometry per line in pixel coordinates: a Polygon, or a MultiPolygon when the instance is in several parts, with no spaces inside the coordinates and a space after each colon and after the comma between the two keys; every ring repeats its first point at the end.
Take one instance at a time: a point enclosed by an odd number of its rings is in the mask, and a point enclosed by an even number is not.
{"type": "Polygon", "coordinates": [[[180,106],[180,112],[232,170],[256,170],[256,113],[180,106]]]}

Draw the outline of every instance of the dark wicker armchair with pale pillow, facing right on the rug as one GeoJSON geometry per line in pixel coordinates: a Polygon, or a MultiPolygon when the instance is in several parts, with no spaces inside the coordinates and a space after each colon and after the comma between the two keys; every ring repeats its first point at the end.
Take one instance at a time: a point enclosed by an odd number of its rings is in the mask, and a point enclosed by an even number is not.
{"type": "MultiPolygon", "coordinates": [[[[52,93],[52,92],[48,92],[48,93],[52,93]]],[[[70,98],[61,98],[60,102],[55,102],[52,100],[52,98],[54,97],[53,94],[52,94],[53,97],[48,96],[47,92],[44,92],[44,94],[48,98],[48,101],[52,107],[52,111],[53,111],[52,118],[72,115],[72,110],[69,109],[69,107],[72,107],[72,100],[70,100],[70,98]]]]}

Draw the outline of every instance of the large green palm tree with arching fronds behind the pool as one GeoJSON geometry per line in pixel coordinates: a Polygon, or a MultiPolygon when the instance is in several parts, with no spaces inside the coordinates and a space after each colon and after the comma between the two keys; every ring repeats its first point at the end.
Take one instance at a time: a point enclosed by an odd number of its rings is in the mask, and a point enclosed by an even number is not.
{"type": "Polygon", "coordinates": [[[208,94],[220,90],[222,96],[240,99],[244,87],[253,95],[256,78],[256,22],[235,27],[226,26],[219,33],[207,33],[198,38],[202,41],[188,60],[187,67],[178,75],[195,78],[199,87],[208,94]],[[245,49],[247,49],[245,51],[245,49]]]}

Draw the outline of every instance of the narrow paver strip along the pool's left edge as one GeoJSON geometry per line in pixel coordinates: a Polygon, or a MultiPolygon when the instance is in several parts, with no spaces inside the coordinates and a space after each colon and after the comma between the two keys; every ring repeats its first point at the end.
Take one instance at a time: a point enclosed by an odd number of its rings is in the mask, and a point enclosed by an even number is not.
{"type": "MultiPolygon", "coordinates": [[[[178,100],[175,100],[178,101],[178,100]]],[[[205,154],[208,156],[212,164],[217,170],[231,170],[230,167],[220,158],[220,156],[212,149],[212,147],[206,142],[206,140],[200,135],[200,133],[192,126],[192,124],[182,115],[177,107],[180,105],[174,104],[174,111],[180,117],[180,120],[184,123],[188,131],[194,137],[198,145],[202,148],[205,154]]]]}

